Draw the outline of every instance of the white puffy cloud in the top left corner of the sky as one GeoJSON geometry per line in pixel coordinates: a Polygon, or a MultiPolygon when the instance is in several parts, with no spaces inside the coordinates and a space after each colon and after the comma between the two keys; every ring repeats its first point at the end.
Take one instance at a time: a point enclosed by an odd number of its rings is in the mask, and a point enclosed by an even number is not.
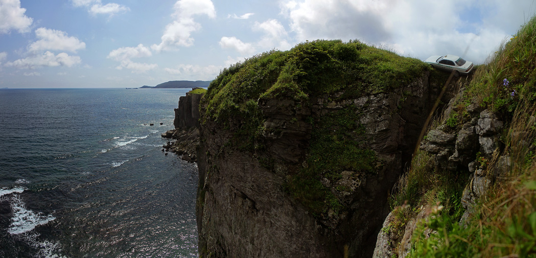
{"type": "Polygon", "coordinates": [[[25,12],[26,9],[20,8],[20,0],[0,0],[0,33],[11,30],[28,32],[33,19],[28,18],[25,12]]]}

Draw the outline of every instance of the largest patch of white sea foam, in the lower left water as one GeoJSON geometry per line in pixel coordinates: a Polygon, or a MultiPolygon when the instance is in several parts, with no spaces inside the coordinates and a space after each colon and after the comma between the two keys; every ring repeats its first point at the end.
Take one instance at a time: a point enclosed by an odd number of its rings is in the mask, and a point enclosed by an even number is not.
{"type": "Polygon", "coordinates": [[[11,197],[10,205],[13,217],[11,217],[8,232],[12,235],[32,231],[36,226],[47,224],[56,219],[52,215],[44,216],[42,212],[35,213],[26,209],[26,204],[18,195],[11,197]]]}

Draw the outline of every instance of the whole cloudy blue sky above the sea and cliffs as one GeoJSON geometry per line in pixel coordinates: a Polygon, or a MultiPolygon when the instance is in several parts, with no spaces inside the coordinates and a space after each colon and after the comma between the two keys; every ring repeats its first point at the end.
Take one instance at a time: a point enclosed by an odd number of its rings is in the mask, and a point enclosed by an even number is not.
{"type": "Polygon", "coordinates": [[[0,0],[0,88],[140,87],[316,39],[485,63],[536,0],[0,0]]]}

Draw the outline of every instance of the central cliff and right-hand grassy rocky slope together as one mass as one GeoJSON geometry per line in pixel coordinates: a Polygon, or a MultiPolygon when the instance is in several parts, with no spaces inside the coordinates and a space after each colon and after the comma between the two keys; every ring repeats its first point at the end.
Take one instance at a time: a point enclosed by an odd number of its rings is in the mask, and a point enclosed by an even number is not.
{"type": "Polygon", "coordinates": [[[452,81],[360,42],[224,69],[200,102],[200,257],[535,253],[534,35],[452,81]]]}

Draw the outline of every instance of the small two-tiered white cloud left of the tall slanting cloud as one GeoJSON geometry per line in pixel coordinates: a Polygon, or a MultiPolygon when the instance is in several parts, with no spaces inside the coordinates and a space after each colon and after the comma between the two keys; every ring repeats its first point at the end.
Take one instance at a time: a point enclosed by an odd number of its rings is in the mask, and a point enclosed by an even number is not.
{"type": "Polygon", "coordinates": [[[131,58],[149,57],[152,55],[151,49],[143,46],[143,44],[139,44],[137,47],[122,47],[111,50],[107,58],[121,62],[120,65],[116,67],[118,70],[126,68],[135,73],[144,73],[149,70],[157,69],[158,64],[137,63],[133,62],[131,58]]]}

